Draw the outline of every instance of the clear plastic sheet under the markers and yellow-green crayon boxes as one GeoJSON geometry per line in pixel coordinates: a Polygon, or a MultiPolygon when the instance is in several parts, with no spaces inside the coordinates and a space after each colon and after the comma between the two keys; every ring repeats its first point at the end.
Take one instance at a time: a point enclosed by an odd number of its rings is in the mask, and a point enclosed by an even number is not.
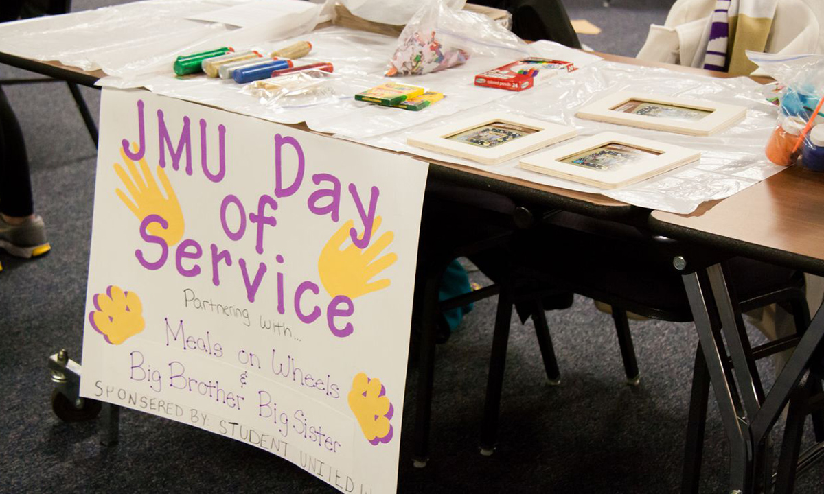
{"type": "MultiPolygon", "coordinates": [[[[325,95],[317,104],[306,104],[304,99],[290,104],[279,98],[276,101],[250,96],[252,91],[233,81],[208,77],[174,77],[171,71],[134,78],[132,80],[102,79],[102,86],[139,87],[181,100],[212,105],[223,110],[248,114],[260,119],[279,123],[306,122],[312,130],[338,134],[352,140],[365,139],[405,128],[419,128],[429,120],[447,117],[477,106],[490,105],[494,100],[509,96],[510,91],[490,89],[474,85],[475,75],[527,56],[561,58],[584,67],[600,58],[569,49],[548,41],[522,44],[519,49],[511,45],[502,47],[503,53],[512,52],[507,58],[478,56],[467,63],[441,72],[423,76],[383,77],[387,62],[395,49],[396,39],[342,27],[316,30],[293,40],[276,44],[290,44],[307,40],[312,44],[310,56],[297,60],[299,64],[330,62],[335,66],[335,97],[325,95]],[[384,82],[401,82],[424,86],[430,91],[443,92],[446,97],[423,111],[406,111],[356,101],[353,96],[384,82]]],[[[269,44],[271,46],[272,44],[269,44]]],[[[565,73],[559,71],[559,75],[565,73]]]]}

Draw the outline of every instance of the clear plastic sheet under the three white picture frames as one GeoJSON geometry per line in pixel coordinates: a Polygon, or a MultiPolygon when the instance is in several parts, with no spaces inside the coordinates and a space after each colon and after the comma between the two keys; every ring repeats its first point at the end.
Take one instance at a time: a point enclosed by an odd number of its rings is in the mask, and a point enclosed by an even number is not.
{"type": "MultiPolygon", "coordinates": [[[[695,208],[705,201],[731,196],[784,170],[784,167],[773,165],[764,156],[765,143],[775,124],[775,106],[764,99],[761,86],[746,77],[703,77],[663,68],[601,62],[550,79],[543,86],[495,100],[482,109],[472,110],[472,113],[489,110],[571,125],[578,128],[578,137],[574,138],[611,131],[689,147],[701,151],[702,155],[700,161],[676,170],[620,189],[605,190],[523,170],[517,166],[518,160],[489,166],[411,147],[406,144],[406,137],[418,132],[414,128],[386,133],[361,142],[394,151],[407,151],[439,161],[472,166],[538,184],[601,193],[636,206],[681,214],[695,211],[695,208]],[[682,96],[742,105],[747,107],[747,118],[713,136],[695,137],[595,122],[574,116],[578,108],[614,91],[639,91],[649,95],[682,96]]],[[[468,114],[471,113],[463,113],[461,117],[468,114]]],[[[428,124],[441,125],[448,121],[449,119],[438,119],[428,124]]],[[[547,148],[535,152],[545,149],[547,148]]]]}

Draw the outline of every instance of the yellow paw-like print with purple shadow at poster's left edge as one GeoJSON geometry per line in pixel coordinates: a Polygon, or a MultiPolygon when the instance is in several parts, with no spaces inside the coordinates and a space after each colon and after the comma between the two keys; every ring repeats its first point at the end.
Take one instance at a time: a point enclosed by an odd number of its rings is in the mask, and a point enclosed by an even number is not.
{"type": "Polygon", "coordinates": [[[97,293],[93,300],[96,310],[89,313],[89,322],[106,342],[119,345],[146,327],[143,303],[133,291],[111,286],[105,293],[97,293]]]}

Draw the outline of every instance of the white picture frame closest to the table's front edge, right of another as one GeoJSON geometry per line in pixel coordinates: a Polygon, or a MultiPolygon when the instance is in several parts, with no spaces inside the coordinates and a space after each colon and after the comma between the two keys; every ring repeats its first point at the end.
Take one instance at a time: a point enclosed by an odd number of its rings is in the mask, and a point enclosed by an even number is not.
{"type": "Polygon", "coordinates": [[[518,165],[580,184],[617,189],[686,165],[700,156],[700,151],[686,147],[605,132],[526,156],[518,165]]]}

